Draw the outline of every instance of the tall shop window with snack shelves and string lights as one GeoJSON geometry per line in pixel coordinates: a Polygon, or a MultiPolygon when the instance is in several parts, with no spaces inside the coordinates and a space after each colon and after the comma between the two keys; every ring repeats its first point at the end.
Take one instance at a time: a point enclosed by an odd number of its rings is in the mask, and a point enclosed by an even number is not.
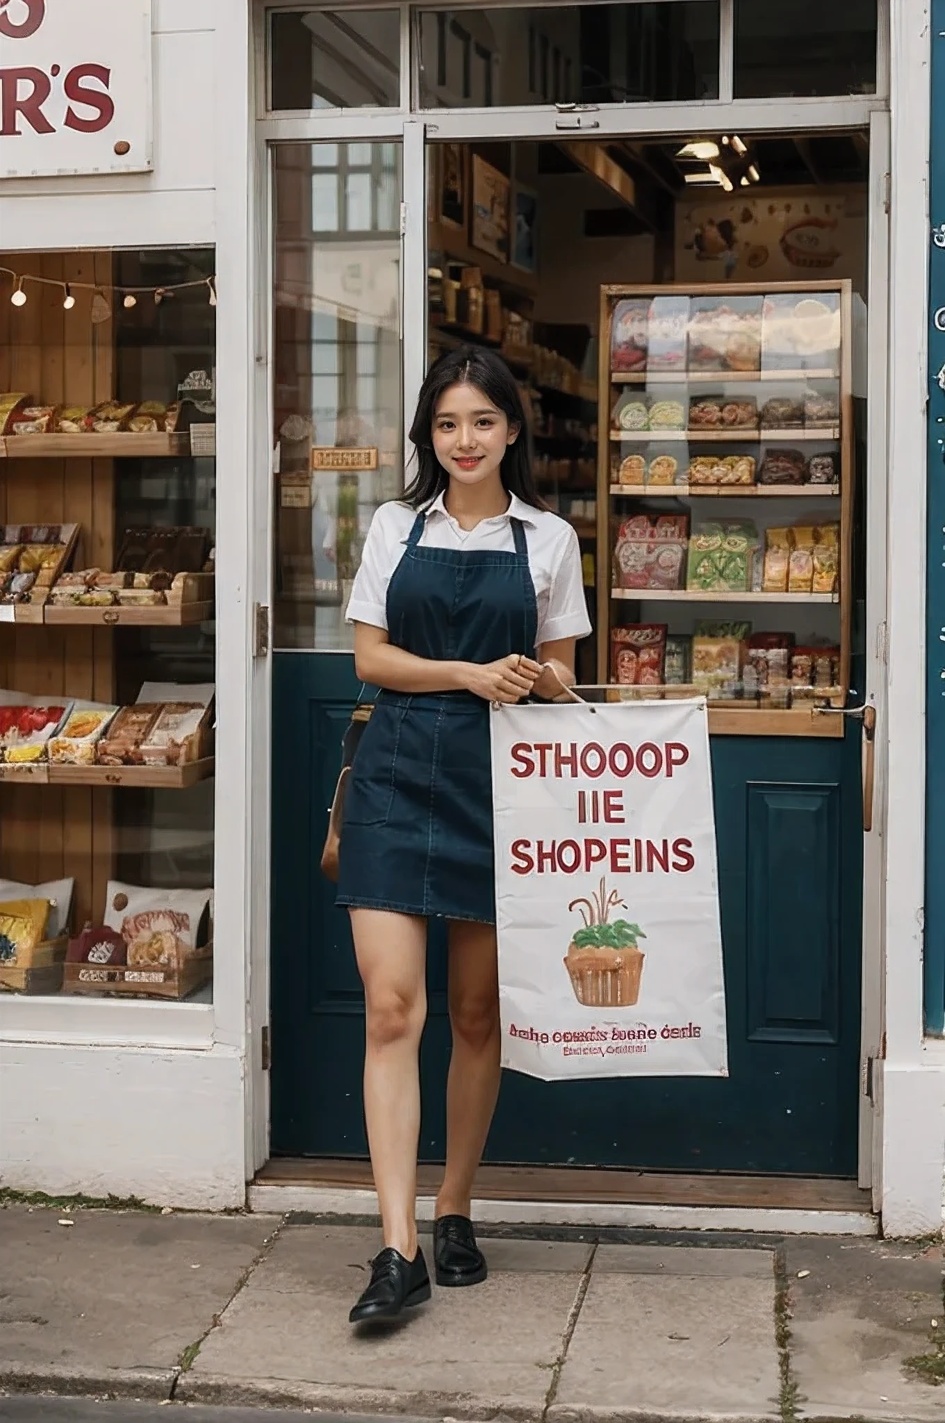
{"type": "Polygon", "coordinates": [[[212,996],[213,270],[0,255],[0,990],[212,996]]]}

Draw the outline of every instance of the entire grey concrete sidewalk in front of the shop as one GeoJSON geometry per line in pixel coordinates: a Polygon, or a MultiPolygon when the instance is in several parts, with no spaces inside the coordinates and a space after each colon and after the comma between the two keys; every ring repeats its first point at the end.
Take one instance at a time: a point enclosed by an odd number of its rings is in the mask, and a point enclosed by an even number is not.
{"type": "Polygon", "coordinates": [[[945,1419],[941,1245],[492,1238],[484,1285],[357,1335],[377,1244],[292,1215],[7,1205],[0,1387],[522,1423],[945,1419]]]}

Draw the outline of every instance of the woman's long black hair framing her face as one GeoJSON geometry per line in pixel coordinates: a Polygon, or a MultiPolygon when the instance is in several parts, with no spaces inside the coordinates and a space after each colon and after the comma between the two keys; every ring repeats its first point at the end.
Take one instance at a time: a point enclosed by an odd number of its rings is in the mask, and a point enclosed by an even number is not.
{"type": "Polygon", "coordinates": [[[410,427],[417,460],[417,472],[407,485],[403,502],[421,509],[447,488],[450,475],[433,448],[433,421],[440,396],[450,386],[475,386],[501,410],[510,425],[518,425],[518,437],[502,455],[500,474],[504,488],[535,509],[547,508],[535,487],[531,464],[531,441],[525,407],[515,377],[501,356],[484,346],[460,346],[447,351],[427,371],[420,388],[417,413],[410,427]]]}

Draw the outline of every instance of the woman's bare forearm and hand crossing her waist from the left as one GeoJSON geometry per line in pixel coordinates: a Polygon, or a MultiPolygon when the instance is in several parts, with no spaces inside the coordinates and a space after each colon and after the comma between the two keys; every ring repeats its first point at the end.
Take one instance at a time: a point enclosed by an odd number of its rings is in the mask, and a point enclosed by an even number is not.
{"type": "Polygon", "coordinates": [[[383,628],[354,623],[354,670],[361,682],[389,692],[472,692],[487,702],[521,702],[541,667],[515,653],[485,666],[417,657],[396,647],[383,628]]]}

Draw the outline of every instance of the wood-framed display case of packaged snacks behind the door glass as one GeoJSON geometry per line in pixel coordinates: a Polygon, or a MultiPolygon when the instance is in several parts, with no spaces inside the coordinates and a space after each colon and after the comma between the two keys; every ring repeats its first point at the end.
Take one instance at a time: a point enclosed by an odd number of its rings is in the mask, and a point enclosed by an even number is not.
{"type": "Polygon", "coordinates": [[[603,286],[598,423],[598,682],[843,736],[850,283],[603,286]]]}

